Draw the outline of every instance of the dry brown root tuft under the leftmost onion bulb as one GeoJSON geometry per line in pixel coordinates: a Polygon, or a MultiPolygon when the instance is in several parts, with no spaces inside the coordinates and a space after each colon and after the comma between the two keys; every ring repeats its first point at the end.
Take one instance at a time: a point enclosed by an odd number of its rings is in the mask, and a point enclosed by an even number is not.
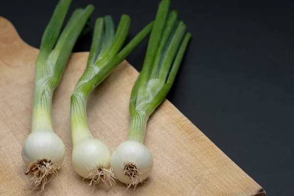
{"type": "Polygon", "coordinates": [[[28,166],[25,175],[27,175],[29,172],[32,172],[33,177],[30,179],[30,181],[35,185],[33,190],[36,187],[41,186],[41,193],[44,191],[45,185],[52,179],[52,177],[57,177],[57,170],[59,169],[59,165],[54,164],[47,159],[38,159],[28,166]],[[50,178],[48,178],[49,175],[51,175],[50,178]]]}

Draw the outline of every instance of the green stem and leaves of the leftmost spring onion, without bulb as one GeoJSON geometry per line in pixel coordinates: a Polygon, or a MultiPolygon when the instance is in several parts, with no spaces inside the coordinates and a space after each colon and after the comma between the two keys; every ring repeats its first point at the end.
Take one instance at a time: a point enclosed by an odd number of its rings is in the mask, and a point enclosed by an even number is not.
{"type": "Polygon", "coordinates": [[[52,49],[59,35],[70,2],[70,0],[61,0],[57,4],[42,37],[42,44],[36,61],[32,132],[53,131],[51,122],[53,91],[60,81],[79,34],[94,10],[94,6],[89,5],[86,9],[77,9],[74,11],[71,19],[61,33],[56,46],[52,49]],[[49,52],[49,50],[51,51],[49,52]]]}

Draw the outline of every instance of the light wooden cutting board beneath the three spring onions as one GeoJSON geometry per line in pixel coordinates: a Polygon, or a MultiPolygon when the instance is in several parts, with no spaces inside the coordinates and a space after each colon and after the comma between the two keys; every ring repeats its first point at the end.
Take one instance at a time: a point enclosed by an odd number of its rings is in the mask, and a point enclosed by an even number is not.
{"type": "MultiPolygon", "coordinates": [[[[41,39],[41,36],[40,36],[41,39]]],[[[13,25],[0,17],[0,195],[31,196],[31,175],[21,149],[31,130],[35,60],[39,50],[27,45],[13,25]]],[[[73,53],[55,90],[52,121],[66,146],[58,178],[52,179],[43,196],[123,195],[126,186],[117,182],[110,190],[82,182],[72,167],[70,96],[81,76],[88,52],[73,53]]],[[[87,105],[90,129],[114,150],[127,135],[128,103],[138,72],[126,61],[91,94],[87,105]]],[[[154,168],[146,183],[124,195],[140,196],[265,196],[266,193],[243,172],[171,102],[165,100],[151,116],[145,139],[154,168]]]]}

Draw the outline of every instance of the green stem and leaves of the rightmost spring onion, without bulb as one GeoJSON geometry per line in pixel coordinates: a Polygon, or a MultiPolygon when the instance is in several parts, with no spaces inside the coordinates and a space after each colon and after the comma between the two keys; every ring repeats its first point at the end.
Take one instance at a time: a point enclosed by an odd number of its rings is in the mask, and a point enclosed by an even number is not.
{"type": "Polygon", "coordinates": [[[166,19],[169,3],[162,0],[159,5],[143,69],[131,92],[127,140],[144,142],[147,120],[170,91],[191,38],[188,33],[183,40],[186,25],[177,21],[176,11],[166,19]]]}

